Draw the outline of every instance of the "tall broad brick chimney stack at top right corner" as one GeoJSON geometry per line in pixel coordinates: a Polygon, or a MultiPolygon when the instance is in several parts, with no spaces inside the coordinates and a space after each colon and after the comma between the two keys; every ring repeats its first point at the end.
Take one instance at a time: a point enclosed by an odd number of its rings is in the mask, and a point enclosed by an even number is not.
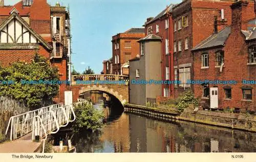
{"type": "Polygon", "coordinates": [[[246,6],[247,5],[248,5],[248,2],[246,1],[237,1],[230,6],[232,10],[231,33],[239,32],[241,30],[246,30],[246,27],[247,27],[246,6]]]}

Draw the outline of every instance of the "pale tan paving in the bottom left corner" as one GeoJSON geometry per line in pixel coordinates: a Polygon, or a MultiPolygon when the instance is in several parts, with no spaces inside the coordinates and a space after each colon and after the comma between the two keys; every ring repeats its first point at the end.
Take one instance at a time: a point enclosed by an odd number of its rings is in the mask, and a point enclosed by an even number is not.
{"type": "Polygon", "coordinates": [[[0,144],[0,153],[33,153],[36,152],[41,143],[36,143],[31,140],[32,133],[14,141],[9,141],[0,144]]]}

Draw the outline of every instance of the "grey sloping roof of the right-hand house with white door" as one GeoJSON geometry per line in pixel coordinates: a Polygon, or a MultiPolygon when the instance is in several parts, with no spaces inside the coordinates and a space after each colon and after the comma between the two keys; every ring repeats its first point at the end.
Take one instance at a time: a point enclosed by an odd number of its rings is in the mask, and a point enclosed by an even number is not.
{"type": "Polygon", "coordinates": [[[219,33],[213,34],[210,37],[208,37],[207,39],[203,40],[191,51],[207,49],[207,48],[211,48],[211,47],[217,47],[219,45],[224,45],[229,34],[230,34],[230,27],[226,27],[226,28],[222,29],[219,33]]]}

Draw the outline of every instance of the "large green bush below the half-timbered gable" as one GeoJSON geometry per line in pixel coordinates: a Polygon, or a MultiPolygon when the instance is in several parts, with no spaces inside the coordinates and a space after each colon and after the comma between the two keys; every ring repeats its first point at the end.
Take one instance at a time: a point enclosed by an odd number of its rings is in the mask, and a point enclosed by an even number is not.
{"type": "Polygon", "coordinates": [[[57,84],[22,84],[22,80],[59,80],[57,68],[51,67],[46,58],[37,54],[29,64],[16,62],[11,66],[0,68],[0,80],[14,82],[14,84],[0,84],[0,96],[26,101],[29,107],[37,106],[42,99],[52,99],[56,96],[59,86],[57,84]]]}

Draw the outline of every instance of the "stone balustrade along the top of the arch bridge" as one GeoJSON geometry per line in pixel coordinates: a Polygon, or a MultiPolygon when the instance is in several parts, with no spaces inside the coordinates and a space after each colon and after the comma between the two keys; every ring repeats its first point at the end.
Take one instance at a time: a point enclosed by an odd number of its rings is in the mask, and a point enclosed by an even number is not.
{"type": "Polygon", "coordinates": [[[129,76],[127,75],[111,75],[111,74],[90,74],[90,75],[74,75],[71,77],[72,84],[75,84],[77,80],[80,81],[94,81],[94,80],[111,80],[111,81],[125,81],[129,82],[129,76]]]}

